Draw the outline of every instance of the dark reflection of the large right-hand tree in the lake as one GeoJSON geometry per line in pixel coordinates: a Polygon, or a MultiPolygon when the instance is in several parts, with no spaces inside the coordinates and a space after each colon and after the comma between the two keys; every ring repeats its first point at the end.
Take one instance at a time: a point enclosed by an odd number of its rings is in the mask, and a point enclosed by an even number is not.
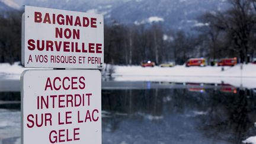
{"type": "Polygon", "coordinates": [[[241,143],[253,133],[255,135],[252,124],[256,121],[256,101],[251,91],[240,90],[238,94],[210,92],[207,102],[209,113],[201,117],[204,123],[201,129],[206,136],[241,143]]]}

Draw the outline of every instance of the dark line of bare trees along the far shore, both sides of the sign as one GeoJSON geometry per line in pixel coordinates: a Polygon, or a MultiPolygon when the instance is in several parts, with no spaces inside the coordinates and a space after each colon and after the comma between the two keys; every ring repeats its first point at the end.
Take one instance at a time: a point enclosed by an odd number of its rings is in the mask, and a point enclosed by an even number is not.
{"type": "MultiPolygon", "coordinates": [[[[0,62],[21,60],[21,11],[0,14],[0,62]]],[[[249,62],[256,52],[256,0],[228,0],[226,11],[207,12],[197,20],[201,26],[190,32],[167,30],[161,24],[125,25],[114,21],[104,25],[104,62],[139,65],[143,60],[156,64],[182,65],[191,57],[208,62],[238,57],[249,62]]]]}

